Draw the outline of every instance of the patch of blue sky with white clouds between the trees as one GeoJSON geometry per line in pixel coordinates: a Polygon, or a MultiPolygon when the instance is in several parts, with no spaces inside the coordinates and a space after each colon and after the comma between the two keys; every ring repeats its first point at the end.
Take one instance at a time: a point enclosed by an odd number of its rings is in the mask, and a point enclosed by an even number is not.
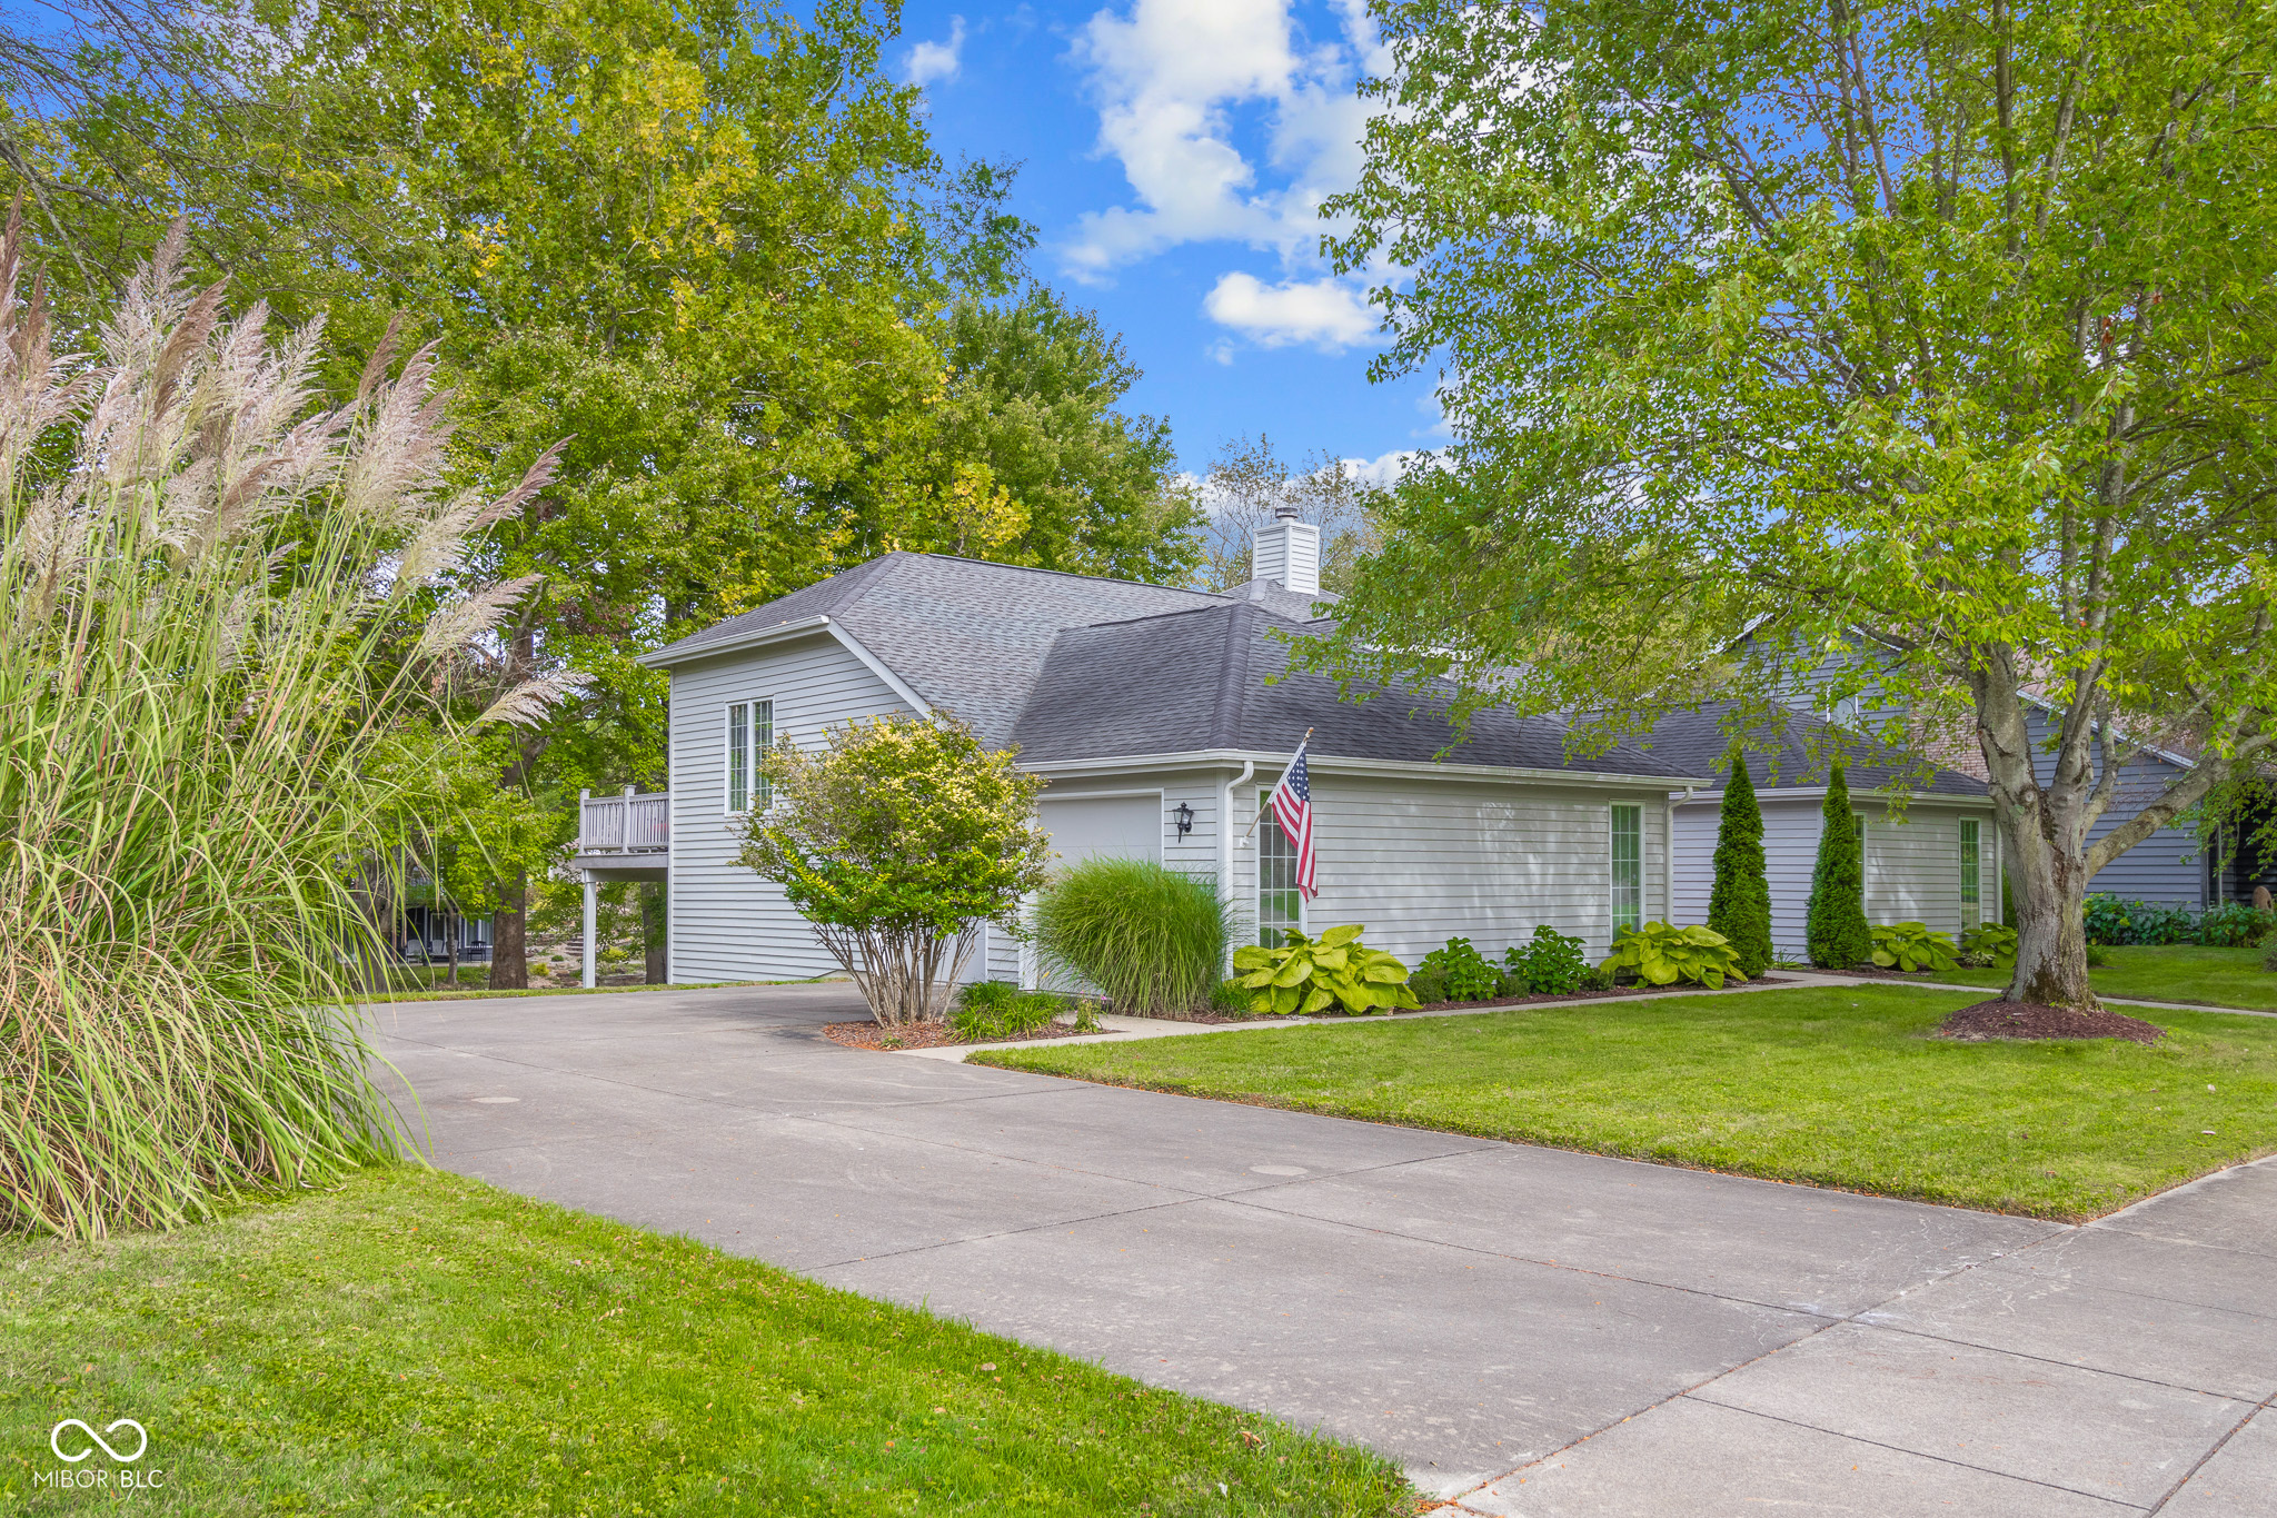
{"type": "Polygon", "coordinates": [[[1186,469],[1257,432],[1371,473],[1444,442],[1428,380],[1368,385],[1368,280],[1318,257],[1382,66],[1359,2],[913,0],[888,64],[945,157],[1022,162],[1036,275],[1123,332],[1127,405],[1170,419],[1186,469]]]}

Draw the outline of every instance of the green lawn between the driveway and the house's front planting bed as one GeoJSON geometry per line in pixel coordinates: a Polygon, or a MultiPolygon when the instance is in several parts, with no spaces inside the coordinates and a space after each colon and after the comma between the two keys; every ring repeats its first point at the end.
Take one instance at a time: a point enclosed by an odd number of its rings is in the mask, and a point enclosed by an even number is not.
{"type": "Polygon", "coordinates": [[[1967,1001],[1863,981],[975,1061],[2070,1220],[2277,1149],[2277,1020],[2152,1013],[2152,1047],[1924,1038],[1967,1001]]]}

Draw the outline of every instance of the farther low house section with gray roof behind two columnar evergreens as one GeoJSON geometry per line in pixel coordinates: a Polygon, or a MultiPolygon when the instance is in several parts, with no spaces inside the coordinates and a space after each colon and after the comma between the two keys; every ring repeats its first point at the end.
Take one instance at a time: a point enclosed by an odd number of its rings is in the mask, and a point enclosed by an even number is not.
{"type": "MultiPolygon", "coordinates": [[[[1731,708],[1705,706],[1653,726],[1644,749],[1676,769],[1715,776],[1676,797],[1676,922],[1708,922],[1715,842],[1724,808],[1731,708]]],[[[1826,767],[1842,758],[1851,810],[1865,838],[1867,922],[1926,922],[1958,935],[1999,922],[1999,828],[1986,783],[1956,769],[1924,776],[1890,767],[1876,749],[1817,717],[1794,712],[1749,733],[1749,776],[1762,806],[1762,860],[1772,883],[1772,949],[1803,958],[1810,874],[1819,858],[1826,767]],[[1904,797],[1894,806],[1892,792],[1904,797]]]]}

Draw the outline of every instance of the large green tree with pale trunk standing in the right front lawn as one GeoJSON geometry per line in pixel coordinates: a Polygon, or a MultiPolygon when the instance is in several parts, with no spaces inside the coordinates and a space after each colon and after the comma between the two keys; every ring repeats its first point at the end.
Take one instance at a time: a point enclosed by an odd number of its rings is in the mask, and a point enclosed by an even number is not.
{"type": "Polygon", "coordinates": [[[1439,371],[1455,446],[1314,658],[1598,733],[1806,678],[1960,719],[2008,995],[2093,1006],[2088,881],[2272,742],[2270,11],[1375,14],[1334,253],[1405,271],[1380,369],[1439,371]],[[2122,803],[2149,740],[2197,765],[2122,803]]]}

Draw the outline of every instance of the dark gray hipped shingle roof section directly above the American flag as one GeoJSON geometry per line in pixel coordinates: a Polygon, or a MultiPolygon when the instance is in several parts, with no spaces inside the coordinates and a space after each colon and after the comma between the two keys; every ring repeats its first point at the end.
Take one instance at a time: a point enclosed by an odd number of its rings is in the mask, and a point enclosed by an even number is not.
{"type": "MultiPolygon", "coordinates": [[[[1305,728],[1323,758],[1430,762],[1455,733],[1428,699],[1407,692],[1339,701],[1337,685],[1289,669],[1289,644],[1273,635],[1307,624],[1261,601],[1068,628],[1036,680],[1013,742],[1031,765],[1107,756],[1246,749],[1287,753],[1305,728]]],[[[1580,774],[1699,776],[1667,758],[1614,746],[1569,760],[1567,728],[1489,710],[1448,753],[1450,765],[1510,765],[1580,774]]]]}

